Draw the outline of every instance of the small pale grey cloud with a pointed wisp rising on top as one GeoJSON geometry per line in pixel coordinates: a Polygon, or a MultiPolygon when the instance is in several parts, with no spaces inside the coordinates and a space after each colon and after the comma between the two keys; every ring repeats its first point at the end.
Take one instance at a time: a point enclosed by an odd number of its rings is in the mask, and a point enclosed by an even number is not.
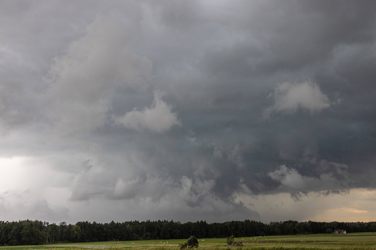
{"type": "Polygon", "coordinates": [[[173,125],[181,125],[177,113],[172,111],[172,106],[162,100],[158,91],[154,92],[154,101],[150,107],[139,111],[134,108],[122,117],[115,118],[115,124],[134,130],[147,129],[153,132],[163,132],[173,125]]]}

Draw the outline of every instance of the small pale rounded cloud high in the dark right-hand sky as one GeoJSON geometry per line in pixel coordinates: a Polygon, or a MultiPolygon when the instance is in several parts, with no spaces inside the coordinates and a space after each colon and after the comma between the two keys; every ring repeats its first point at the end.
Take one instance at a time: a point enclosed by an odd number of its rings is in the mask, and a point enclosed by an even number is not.
{"type": "Polygon", "coordinates": [[[269,97],[274,99],[274,104],[264,110],[264,119],[269,118],[273,112],[294,113],[298,108],[311,113],[319,112],[333,103],[316,83],[309,80],[302,83],[282,83],[269,97]]]}

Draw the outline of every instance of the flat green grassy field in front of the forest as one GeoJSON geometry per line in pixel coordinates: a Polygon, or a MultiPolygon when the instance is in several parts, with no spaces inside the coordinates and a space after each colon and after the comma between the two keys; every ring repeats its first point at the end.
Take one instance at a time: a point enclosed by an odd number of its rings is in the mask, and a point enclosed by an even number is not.
{"type": "MultiPolygon", "coordinates": [[[[148,241],[111,241],[88,243],[61,243],[27,246],[5,246],[0,250],[88,250],[135,247],[135,250],[172,250],[185,239],[148,240],[148,241]]],[[[311,235],[282,235],[265,237],[238,237],[235,241],[244,242],[244,247],[227,247],[226,238],[199,239],[199,249],[227,250],[241,248],[243,250],[277,250],[277,249],[376,249],[376,233],[347,233],[347,234],[311,234],[311,235]]]]}

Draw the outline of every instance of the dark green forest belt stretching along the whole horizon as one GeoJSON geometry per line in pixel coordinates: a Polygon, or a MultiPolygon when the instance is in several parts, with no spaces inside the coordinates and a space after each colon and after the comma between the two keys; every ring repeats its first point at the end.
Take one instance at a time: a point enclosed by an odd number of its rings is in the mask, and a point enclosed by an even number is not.
{"type": "Polygon", "coordinates": [[[328,233],[336,229],[352,232],[374,232],[375,222],[280,221],[269,224],[254,220],[206,223],[206,221],[126,221],[96,223],[80,221],[59,224],[38,220],[0,221],[1,245],[39,245],[53,242],[127,241],[139,239],[225,238],[230,235],[264,236],[328,233]]]}

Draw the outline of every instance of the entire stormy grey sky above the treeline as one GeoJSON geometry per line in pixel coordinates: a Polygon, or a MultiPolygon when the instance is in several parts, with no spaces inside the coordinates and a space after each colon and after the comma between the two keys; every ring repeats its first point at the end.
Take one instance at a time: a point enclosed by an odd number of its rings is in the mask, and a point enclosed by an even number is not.
{"type": "Polygon", "coordinates": [[[376,220],[376,2],[3,0],[0,220],[376,220]]]}

